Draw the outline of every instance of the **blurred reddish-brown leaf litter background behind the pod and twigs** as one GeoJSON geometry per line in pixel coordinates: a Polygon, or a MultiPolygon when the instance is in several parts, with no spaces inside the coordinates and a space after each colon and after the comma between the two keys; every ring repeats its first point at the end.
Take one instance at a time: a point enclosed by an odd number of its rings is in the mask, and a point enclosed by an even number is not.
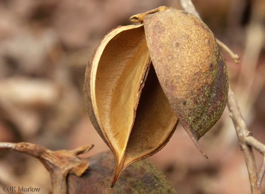
{"type": "MultiPolygon", "coordinates": [[[[265,1],[193,2],[216,37],[240,55],[240,64],[234,64],[221,50],[247,126],[265,143],[265,1]]],[[[94,144],[84,157],[107,150],[85,112],[87,60],[109,30],[162,5],[178,7],[178,1],[0,0],[0,141],[27,141],[52,150],[94,144]]],[[[208,160],[178,126],[150,160],[180,194],[250,193],[227,109],[200,144],[208,160]]],[[[255,155],[259,168],[262,157],[255,155]]],[[[1,185],[37,186],[47,193],[49,175],[34,158],[1,151],[1,185]]]]}

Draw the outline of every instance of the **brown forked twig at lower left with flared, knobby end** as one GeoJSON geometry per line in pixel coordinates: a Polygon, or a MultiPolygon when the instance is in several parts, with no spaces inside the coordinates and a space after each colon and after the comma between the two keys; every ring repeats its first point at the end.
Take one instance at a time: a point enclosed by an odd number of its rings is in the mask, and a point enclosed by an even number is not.
{"type": "Polygon", "coordinates": [[[77,157],[78,154],[89,151],[93,145],[78,147],[74,150],[51,151],[32,143],[0,142],[1,149],[11,149],[29,154],[40,160],[49,171],[53,194],[66,194],[66,178],[68,174],[81,176],[88,168],[88,162],[77,157]]]}

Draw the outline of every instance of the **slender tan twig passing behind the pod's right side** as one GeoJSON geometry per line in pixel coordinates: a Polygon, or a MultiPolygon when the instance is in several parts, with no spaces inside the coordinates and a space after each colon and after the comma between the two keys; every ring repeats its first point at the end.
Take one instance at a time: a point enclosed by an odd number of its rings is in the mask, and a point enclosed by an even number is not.
{"type": "MultiPolygon", "coordinates": [[[[199,14],[194,8],[194,5],[192,4],[191,0],[180,0],[180,3],[184,10],[196,15],[199,17],[199,14]]],[[[219,41],[218,41],[219,42],[219,41]]],[[[238,56],[235,55],[227,46],[222,46],[222,44],[219,46],[225,48],[225,50],[229,53],[231,58],[236,62],[238,60],[238,56]]],[[[256,140],[254,137],[251,136],[251,133],[248,131],[246,124],[244,122],[244,119],[242,117],[241,111],[238,107],[237,101],[235,99],[233,91],[229,90],[229,96],[228,96],[228,102],[227,102],[229,111],[230,111],[230,117],[234,123],[236,133],[239,140],[239,145],[244,153],[246,166],[249,174],[249,181],[250,181],[250,187],[251,192],[253,194],[260,194],[261,193],[261,181],[263,178],[263,175],[265,173],[265,145],[256,140]],[[263,163],[261,165],[261,168],[259,172],[257,173],[256,170],[256,163],[255,163],[255,157],[252,151],[252,147],[255,148],[257,151],[259,151],[264,156],[263,163]]]]}

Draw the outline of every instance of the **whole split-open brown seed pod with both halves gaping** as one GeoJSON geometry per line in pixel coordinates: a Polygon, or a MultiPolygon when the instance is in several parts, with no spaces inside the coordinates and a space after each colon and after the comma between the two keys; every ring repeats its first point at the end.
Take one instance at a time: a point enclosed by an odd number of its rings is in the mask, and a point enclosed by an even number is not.
{"type": "MultiPolygon", "coordinates": [[[[169,141],[178,120],[197,140],[221,117],[228,75],[214,34],[197,17],[160,7],[111,30],[90,58],[90,120],[115,158],[112,185],[169,141]]],[[[201,149],[200,149],[201,150],[201,149]]]]}

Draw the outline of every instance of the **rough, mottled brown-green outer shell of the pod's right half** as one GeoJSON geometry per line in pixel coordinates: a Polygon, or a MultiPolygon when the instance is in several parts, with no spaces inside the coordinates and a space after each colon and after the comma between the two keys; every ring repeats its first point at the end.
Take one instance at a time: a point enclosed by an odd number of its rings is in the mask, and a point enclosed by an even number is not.
{"type": "Polygon", "coordinates": [[[228,97],[226,63],[215,36],[199,18],[176,9],[147,14],[143,24],[158,80],[200,149],[197,140],[220,119],[228,97]]]}

